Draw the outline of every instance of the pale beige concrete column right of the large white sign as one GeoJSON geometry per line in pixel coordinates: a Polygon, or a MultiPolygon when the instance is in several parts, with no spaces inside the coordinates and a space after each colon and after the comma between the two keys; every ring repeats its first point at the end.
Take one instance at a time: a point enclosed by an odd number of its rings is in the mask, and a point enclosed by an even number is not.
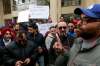
{"type": "Polygon", "coordinates": [[[58,19],[58,1],[59,0],[50,0],[50,17],[53,22],[57,22],[58,19]]]}

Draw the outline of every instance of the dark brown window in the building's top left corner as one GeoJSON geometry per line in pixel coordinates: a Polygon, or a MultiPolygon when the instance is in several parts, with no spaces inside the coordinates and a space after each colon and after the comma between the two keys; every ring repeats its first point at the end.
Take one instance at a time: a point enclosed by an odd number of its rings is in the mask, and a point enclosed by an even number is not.
{"type": "Polygon", "coordinates": [[[4,12],[4,14],[10,14],[11,13],[10,0],[2,0],[2,2],[3,2],[3,12],[4,12]]]}

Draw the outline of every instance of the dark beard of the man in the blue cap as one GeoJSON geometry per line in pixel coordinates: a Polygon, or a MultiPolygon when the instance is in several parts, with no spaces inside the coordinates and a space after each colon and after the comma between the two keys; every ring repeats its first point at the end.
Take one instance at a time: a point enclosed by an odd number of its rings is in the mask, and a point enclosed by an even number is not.
{"type": "Polygon", "coordinates": [[[83,39],[85,40],[89,40],[89,39],[92,39],[96,36],[96,31],[82,31],[80,33],[80,37],[82,37],[83,39]]]}

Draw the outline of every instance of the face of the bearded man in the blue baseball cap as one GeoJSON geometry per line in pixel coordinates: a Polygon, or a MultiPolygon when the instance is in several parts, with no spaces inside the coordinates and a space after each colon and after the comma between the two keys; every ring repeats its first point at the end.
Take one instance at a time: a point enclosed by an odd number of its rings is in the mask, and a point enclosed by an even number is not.
{"type": "Polygon", "coordinates": [[[80,36],[86,40],[94,38],[98,33],[98,26],[100,26],[99,21],[93,18],[83,18],[82,25],[80,27],[80,36]]]}

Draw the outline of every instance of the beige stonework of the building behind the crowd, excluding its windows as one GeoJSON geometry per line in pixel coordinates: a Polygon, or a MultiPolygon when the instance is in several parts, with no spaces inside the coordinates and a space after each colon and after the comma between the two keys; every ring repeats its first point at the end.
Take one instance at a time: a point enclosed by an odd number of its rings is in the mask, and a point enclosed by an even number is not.
{"type": "MultiPolygon", "coordinates": [[[[94,3],[100,3],[100,0],[82,0],[81,6],[87,7],[94,3]]],[[[12,0],[11,0],[11,4],[12,4],[12,0]]],[[[50,0],[50,17],[52,18],[53,22],[58,22],[61,14],[73,13],[76,7],[79,6],[61,7],[61,0],[50,0]]],[[[18,16],[18,11],[12,11],[12,14],[4,15],[2,0],[0,0],[0,22],[4,23],[5,19],[11,19],[12,17],[16,17],[16,16],[18,16]]]]}

